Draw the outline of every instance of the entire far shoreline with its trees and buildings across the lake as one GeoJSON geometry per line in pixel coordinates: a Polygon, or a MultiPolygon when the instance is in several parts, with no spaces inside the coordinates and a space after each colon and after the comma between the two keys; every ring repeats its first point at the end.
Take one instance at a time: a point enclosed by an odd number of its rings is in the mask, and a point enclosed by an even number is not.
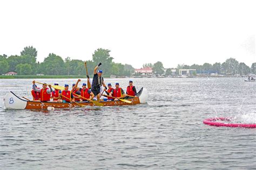
{"type": "Polygon", "coordinates": [[[104,77],[110,78],[246,77],[256,74],[256,62],[250,67],[234,58],[229,58],[223,63],[191,66],[181,64],[176,68],[164,68],[163,63],[157,61],[153,64],[145,63],[141,69],[134,69],[132,65],[113,62],[114,58],[110,56],[110,52],[109,49],[98,48],[92,54],[92,60],[84,60],[89,56],[84,59],[81,57],[80,60],[68,56],[63,60],[61,56],[50,53],[43,62],[38,62],[36,48],[26,46],[21,55],[0,54],[0,79],[86,79],[85,63],[92,78],[93,69],[99,62],[102,62],[100,69],[103,70],[104,77]]]}

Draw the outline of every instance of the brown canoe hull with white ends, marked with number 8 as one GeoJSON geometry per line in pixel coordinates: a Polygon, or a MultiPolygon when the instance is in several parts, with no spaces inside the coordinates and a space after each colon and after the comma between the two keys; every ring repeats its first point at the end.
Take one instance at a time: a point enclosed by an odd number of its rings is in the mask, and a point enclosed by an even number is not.
{"type": "MultiPolygon", "coordinates": [[[[131,101],[131,103],[127,103],[124,101],[100,101],[100,103],[104,104],[105,106],[119,106],[119,105],[135,105],[140,103],[147,102],[147,89],[141,88],[137,93],[136,97],[127,98],[125,100],[131,101]]],[[[56,102],[35,102],[35,101],[28,101],[23,100],[22,98],[18,97],[12,91],[4,97],[4,107],[5,109],[59,109],[59,108],[79,108],[91,106],[93,107],[94,104],[92,102],[67,102],[67,103],[56,103],[56,102]]]]}

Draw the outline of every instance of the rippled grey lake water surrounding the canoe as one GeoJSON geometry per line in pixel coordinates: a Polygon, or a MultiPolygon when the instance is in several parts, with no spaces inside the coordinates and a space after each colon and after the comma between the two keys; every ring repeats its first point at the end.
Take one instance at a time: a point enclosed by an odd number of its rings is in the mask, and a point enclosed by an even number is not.
{"type": "MultiPolygon", "coordinates": [[[[76,80],[40,80],[60,85],[76,80]]],[[[126,87],[129,79],[106,79],[126,87]]],[[[0,80],[30,97],[32,80],[0,80]]],[[[255,168],[256,129],[214,127],[209,117],[256,123],[256,82],[242,78],[133,79],[147,104],[54,111],[4,110],[1,169],[255,168]]]]}

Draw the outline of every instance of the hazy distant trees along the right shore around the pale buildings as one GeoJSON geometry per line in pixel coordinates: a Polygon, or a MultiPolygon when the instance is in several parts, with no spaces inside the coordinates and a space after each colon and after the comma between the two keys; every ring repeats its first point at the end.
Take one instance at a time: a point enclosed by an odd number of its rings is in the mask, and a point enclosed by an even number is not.
{"type": "Polygon", "coordinates": [[[234,58],[229,58],[225,62],[215,62],[213,65],[210,63],[204,63],[203,65],[193,64],[178,65],[177,68],[167,68],[164,70],[163,63],[160,61],[152,64],[145,63],[143,68],[152,67],[154,74],[156,75],[172,75],[172,69],[176,69],[176,74],[179,74],[179,69],[197,69],[195,74],[223,74],[223,75],[249,75],[256,74],[256,62],[252,63],[252,66],[247,66],[244,62],[238,62],[234,58]]]}

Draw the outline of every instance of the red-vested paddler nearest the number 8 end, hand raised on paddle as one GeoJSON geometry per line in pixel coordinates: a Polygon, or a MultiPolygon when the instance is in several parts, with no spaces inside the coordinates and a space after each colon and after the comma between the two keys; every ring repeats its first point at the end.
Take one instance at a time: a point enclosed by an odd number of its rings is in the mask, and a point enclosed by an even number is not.
{"type": "Polygon", "coordinates": [[[40,100],[38,100],[37,102],[49,102],[50,98],[51,98],[51,93],[52,93],[52,88],[51,85],[49,84],[49,88],[47,88],[47,84],[43,83],[43,88],[42,89],[38,89],[36,88],[36,81],[32,81],[33,83],[33,90],[40,92],[40,100]]]}

